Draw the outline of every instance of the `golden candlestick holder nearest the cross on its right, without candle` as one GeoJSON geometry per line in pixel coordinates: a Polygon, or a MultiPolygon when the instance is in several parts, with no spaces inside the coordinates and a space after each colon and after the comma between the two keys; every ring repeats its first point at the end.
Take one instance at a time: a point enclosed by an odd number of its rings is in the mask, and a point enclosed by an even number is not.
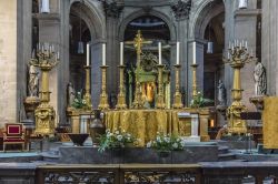
{"type": "Polygon", "coordinates": [[[166,109],[165,95],[163,95],[163,76],[162,72],[165,69],[165,64],[158,64],[158,95],[156,101],[157,109],[166,109]]]}

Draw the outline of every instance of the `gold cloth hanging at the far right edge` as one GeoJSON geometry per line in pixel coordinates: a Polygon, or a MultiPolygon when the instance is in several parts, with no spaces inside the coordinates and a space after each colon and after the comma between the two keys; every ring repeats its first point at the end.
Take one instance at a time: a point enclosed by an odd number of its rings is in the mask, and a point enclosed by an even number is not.
{"type": "Polygon", "coordinates": [[[278,149],[278,98],[265,98],[262,111],[264,147],[278,149]]]}

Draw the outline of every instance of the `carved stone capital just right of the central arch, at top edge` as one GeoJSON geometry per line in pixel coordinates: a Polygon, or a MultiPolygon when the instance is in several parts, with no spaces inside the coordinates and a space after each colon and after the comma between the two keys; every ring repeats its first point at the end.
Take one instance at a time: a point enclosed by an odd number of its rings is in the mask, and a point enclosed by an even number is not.
{"type": "Polygon", "coordinates": [[[191,0],[178,0],[176,4],[171,6],[177,20],[183,20],[189,18],[191,9],[191,0]]]}

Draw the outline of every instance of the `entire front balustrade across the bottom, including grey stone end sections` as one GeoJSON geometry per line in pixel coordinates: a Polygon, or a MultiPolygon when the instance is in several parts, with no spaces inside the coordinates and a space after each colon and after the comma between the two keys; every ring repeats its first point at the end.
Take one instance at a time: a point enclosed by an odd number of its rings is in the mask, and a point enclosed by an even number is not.
{"type": "Polygon", "coordinates": [[[0,163],[0,183],[17,184],[278,184],[278,162],[200,164],[0,163]]]}

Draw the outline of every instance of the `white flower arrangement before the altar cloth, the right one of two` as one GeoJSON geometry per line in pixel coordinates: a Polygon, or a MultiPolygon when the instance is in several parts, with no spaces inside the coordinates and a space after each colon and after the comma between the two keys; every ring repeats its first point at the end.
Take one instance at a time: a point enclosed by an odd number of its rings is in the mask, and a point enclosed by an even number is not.
{"type": "Polygon", "coordinates": [[[152,147],[158,152],[181,151],[185,142],[177,135],[157,133],[156,140],[147,143],[147,147],[152,147]]]}

